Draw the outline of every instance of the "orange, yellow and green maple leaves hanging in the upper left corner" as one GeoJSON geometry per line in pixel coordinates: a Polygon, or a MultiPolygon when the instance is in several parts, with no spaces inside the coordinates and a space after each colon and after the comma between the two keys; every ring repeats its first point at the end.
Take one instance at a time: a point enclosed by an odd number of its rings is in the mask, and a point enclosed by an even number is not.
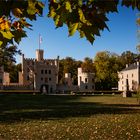
{"type": "Polygon", "coordinates": [[[15,61],[17,44],[26,37],[25,28],[31,28],[27,20],[42,15],[43,6],[36,0],[0,0],[0,65],[15,61]]]}

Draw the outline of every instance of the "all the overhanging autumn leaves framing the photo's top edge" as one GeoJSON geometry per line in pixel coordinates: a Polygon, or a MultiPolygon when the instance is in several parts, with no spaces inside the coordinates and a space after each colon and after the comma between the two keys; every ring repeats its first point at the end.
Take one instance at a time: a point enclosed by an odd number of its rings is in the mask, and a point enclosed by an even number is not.
{"type": "MultiPolygon", "coordinates": [[[[46,1],[40,0],[1,0],[0,1],[0,46],[15,44],[26,37],[25,28],[31,28],[27,20],[41,16],[46,1]]],[[[68,26],[69,36],[76,31],[91,43],[100,31],[109,30],[107,14],[118,12],[119,0],[48,0],[48,17],[56,27],[68,26]]],[[[140,10],[139,0],[120,0],[121,5],[140,10]]]]}

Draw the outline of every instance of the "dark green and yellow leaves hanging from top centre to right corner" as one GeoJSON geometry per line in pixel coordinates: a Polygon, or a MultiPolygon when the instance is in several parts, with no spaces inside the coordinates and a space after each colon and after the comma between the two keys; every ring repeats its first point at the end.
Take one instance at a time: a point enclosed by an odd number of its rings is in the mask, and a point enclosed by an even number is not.
{"type": "MultiPolygon", "coordinates": [[[[139,0],[120,0],[122,6],[140,10],[139,0]]],[[[109,30],[107,14],[118,12],[119,0],[50,0],[49,17],[53,18],[56,27],[68,26],[69,36],[76,31],[80,37],[86,37],[90,43],[100,31],[109,30]]]]}

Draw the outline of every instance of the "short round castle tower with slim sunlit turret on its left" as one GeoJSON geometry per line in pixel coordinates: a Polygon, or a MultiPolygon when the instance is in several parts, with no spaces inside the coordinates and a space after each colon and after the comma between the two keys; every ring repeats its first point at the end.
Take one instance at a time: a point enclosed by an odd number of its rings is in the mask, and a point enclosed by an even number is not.
{"type": "Polygon", "coordinates": [[[85,73],[82,68],[78,68],[78,87],[80,91],[90,91],[95,89],[95,74],[85,73]]]}

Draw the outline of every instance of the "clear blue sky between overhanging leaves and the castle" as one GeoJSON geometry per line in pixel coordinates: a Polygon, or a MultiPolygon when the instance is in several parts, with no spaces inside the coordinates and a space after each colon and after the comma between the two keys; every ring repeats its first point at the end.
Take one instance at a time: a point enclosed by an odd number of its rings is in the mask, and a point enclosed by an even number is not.
{"type": "MultiPolygon", "coordinates": [[[[33,30],[27,30],[28,37],[22,39],[18,47],[25,57],[35,58],[35,50],[39,48],[38,40],[41,34],[44,58],[53,59],[59,55],[60,59],[69,56],[76,60],[83,60],[85,57],[94,58],[99,51],[121,54],[130,50],[136,53],[136,11],[119,6],[119,13],[110,13],[108,18],[107,25],[110,32],[105,29],[101,32],[101,37],[96,37],[94,44],[91,45],[85,38],[81,39],[78,32],[68,37],[66,26],[55,29],[52,19],[39,17],[37,21],[32,22],[33,30]]],[[[16,58],[19,63],[20,57],[16,58]]]]}

